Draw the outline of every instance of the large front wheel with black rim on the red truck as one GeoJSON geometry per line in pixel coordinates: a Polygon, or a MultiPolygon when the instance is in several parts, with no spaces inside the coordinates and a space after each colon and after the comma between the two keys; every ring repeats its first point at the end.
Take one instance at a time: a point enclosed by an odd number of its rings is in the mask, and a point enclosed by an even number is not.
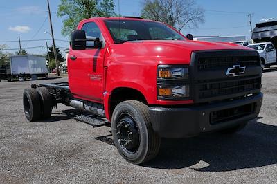
{"type": "Polygon", "coordinates": [[[129,163],[139,165],[159,153],[161,138],[152,129],[149,107],[142,102],[120,102],[111,118],[111,131],[118,152],[129,163]]]}

